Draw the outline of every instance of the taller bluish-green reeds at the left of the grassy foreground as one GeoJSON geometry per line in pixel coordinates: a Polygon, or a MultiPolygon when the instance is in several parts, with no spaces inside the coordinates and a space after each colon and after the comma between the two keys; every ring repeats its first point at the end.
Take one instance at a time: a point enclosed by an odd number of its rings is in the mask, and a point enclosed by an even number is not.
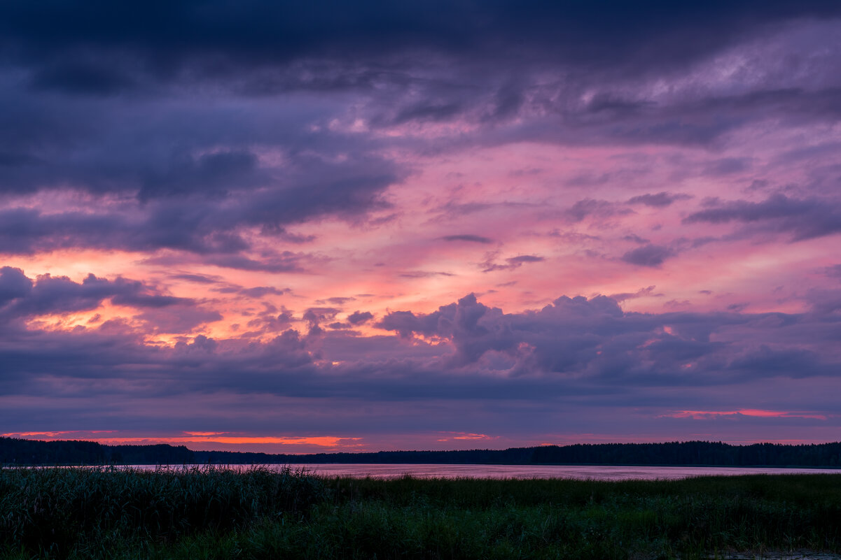
{"type": "Polygon", "coordinates": [[[108,542],[148,547],[305,514],[322,494],[319,479],[291,468],[4,468],[0,545],[60,558],[108,542]]]}

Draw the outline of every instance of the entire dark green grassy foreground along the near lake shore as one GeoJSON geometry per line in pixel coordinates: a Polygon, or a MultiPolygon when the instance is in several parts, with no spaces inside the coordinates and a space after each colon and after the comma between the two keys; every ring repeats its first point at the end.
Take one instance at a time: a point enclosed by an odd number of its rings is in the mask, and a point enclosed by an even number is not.
{"type": "Polygon", "coordinates": [[[841,475],[320,479],[0,471],[4,558],[702,558],[841,552],[841,475]]]}

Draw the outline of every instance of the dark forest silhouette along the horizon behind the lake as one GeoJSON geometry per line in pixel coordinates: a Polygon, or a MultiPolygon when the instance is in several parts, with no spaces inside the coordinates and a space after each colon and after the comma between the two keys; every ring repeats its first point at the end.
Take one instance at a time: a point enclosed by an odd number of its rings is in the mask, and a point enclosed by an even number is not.
{"type": "Polygon", "coordinates": [[[0,464],[606,464],[705,465],[722,467],[841,468],[841,442],[810,445],[722,442],[596,443],[469,451],[380,451],[377,453],[241,453],[191,451],[184,446],[102,445],[97,442],[0,437],[0,464]]]}

